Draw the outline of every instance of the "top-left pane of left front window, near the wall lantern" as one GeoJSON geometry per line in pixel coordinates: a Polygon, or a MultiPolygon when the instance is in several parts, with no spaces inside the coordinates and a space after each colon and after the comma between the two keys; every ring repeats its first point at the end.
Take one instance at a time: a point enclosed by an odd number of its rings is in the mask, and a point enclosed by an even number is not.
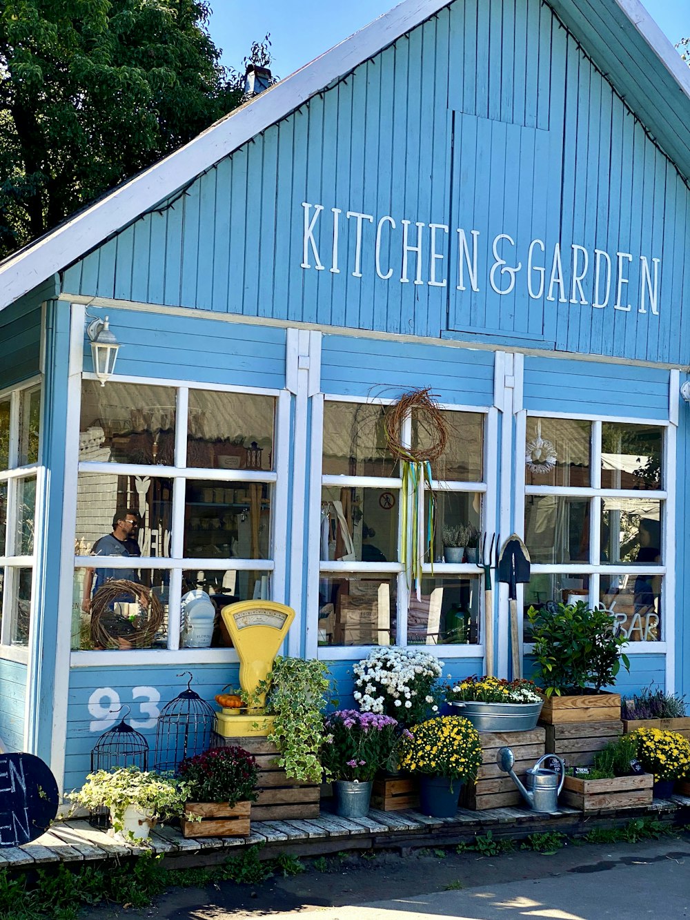
{"type": "Polygon", "coordinates": [[[173,466],[175,410],[170,386],[85,380],[79,460],[173,466]]]}

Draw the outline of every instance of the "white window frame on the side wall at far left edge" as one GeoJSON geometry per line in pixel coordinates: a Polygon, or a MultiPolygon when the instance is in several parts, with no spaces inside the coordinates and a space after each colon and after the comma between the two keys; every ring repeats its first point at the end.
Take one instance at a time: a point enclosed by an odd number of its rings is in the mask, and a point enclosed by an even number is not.
{"type": "Polygon", "coordinates": [[[42,376],[36,374],[20,384],[7,386],[0,390],[0,400],[9,397],[10,404],[10,429],[9,429],[9,457],[8,468],[0,471],[0,483],[7,484],[7,523],[5,535],[5,555],[0,556],[0,568],[4,569],[3,598],[2,598],[2,624],[0,625],[0,658],[6,661],[17,661],[20,664],[29,664],[29,650],[31,649],[32,634],[36,620],[36,591],[35,572],[40,535],[36,530],[36,522],[40,520],[40,505],[43,501],[44,469],[42,466],[43,437],[44,437],[44,386],[42,376]],[[19,430],[20,408],[22,399],[31,391],[40,390],[40,423],[39,423],[39,456],[36,463],[19,466],[19,430]],[[30,556],[18,556],[14,553],[17,539],[17,490],[18,484],[30,478],[36,478],[36,503],[34,507],[34,539],[33,553],[30,556]],[[15,578],[18,569],[31,569],[31,597],[29,602],[29,637],[27,645],[16,645],[12,642],[12,617],[11,603],[14,598],[15,578]]]}

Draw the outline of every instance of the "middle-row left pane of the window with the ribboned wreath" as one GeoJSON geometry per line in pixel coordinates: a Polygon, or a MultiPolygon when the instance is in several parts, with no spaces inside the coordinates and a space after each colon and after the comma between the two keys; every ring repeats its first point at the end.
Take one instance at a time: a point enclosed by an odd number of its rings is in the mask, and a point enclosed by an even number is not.
{"type": "Polygon", "coordinates": [[[321,490],[321,558],[397,562],[400,490],[321,490]]]}

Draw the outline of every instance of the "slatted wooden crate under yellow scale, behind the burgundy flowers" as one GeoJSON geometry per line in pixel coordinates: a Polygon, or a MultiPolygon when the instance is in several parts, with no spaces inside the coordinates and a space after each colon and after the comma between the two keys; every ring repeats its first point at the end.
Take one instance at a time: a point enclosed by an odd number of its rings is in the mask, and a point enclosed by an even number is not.
{"type": "Polygon", "coordinates": [[[264,738],[223,738],[214,734],[213,747],[237,745],[253,754],[259,764],[259,799],[252,802],[252,821],[288,821],[290,818],[317,818],[321,799],[320,783],[289,779],[276,764],[275,744],[264,738]]]}

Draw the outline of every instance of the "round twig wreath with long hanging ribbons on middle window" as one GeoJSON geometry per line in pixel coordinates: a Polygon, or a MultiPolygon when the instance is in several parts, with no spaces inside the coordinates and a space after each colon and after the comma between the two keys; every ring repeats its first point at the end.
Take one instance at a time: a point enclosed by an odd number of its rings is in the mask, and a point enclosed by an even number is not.
{"type": "MultiPolygon", "coordinates": [[[[388,450],[400,460],[402,478],[402,552],[401,562],[408,576],[408,584],[414,583],[417,598],[421,600],[422,563],[427,549],[433,567],[433,532],[436,521],[436,496],[433,491],[431,462],[438,460],[448,443],[448,425],[443,418],[431,387],[410,390],[396,403],[385,410],[385,440],[388,450]],[[402,443],[403,422],[414,412],[420,429],[429,435],[426,447],[415,448],[402,443]],[[420,483],[429,491],[429,519],[426,539],[420,546],[420,515],[423,515],[423,497],[420,505],[420,483]],[[409,514],[408,514],[409,509],[409,514]]],[[[433,572],[433,568],[431,569],[433,572]]]]}

